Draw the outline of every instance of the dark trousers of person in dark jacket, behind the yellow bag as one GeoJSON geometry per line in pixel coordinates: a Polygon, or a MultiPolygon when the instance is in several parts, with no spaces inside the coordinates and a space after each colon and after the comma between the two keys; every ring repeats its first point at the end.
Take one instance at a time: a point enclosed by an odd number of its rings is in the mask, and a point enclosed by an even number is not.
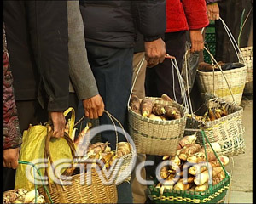
{"type": "MultiPolygon", "coordinates": [[[[48,111],[39,105],[38,100],[16,100],[18,118],[20,122],[20,132],[27,130],[29,125],[38,125],[48,122],[48,111]]],[[[78,99],[76,94],[70,94],[70,106],[77,108],[78,99]]],[[[47,106],[46,106],[47,107],[47,106]]],[[[3,191],[15,188],[15,170],[3,167],[3,191]]]]}

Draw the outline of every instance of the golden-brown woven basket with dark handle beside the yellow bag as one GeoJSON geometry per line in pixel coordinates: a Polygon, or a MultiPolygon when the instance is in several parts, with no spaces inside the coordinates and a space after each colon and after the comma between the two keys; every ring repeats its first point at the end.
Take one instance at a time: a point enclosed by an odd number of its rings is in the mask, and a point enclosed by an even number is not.
{"type": "MultiPolygon", "coordinates": [[[[74,111],[73,111],[74,117],[74,111]]],[[[73,122],[71,122],[69,133],[73,131],[73,122]]],[[[65,133],[65,139],[67,140],[67,144],[70,147],[72,152],[73,158],[76,156],[76,149],[73,144],[73,140],[69,137],[67,133],[65,133]]],[[[49,159],[50,168],[53,167],[53,161],[51,154],[49,152],[49,140],[50,140],[50,133],[48,132],[47,138],[45,140],[45,158],[49,159]]],[[[45,168],[45,175],[48,176],[48,169],[45,168]]],[[[56,184],[55,182],[49,182],[48,177],[48,185],[41,186],[38,188],[40,195],[44,195],[46,201],[49,203],[49,197],[47,193],[49,191],[49,195],[51,200],[54,203],[114,203],[117,202],[117,189],[116,185],[114,184],[102,184],[102,179],[98,175],[99,171],[90,171],[88,173],[79,173],[76,175],[71,176],[71,184],[64,185],[63,181],[61,184],[56,184]],[[81,184],[81,178],[85,178],[84,181],[87,181],[87,178],[91,178],[91,184],[81,184]],[[44,190],[44,187],[48,188],[44,190]]],[[[102,177],[105,178],[106,176],[102,173],[102,177]]]]}

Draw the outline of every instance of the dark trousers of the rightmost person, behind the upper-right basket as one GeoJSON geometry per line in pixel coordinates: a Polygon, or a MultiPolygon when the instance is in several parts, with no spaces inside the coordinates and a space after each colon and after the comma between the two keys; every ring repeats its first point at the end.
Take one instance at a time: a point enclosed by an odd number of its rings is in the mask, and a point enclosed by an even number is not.
{"type": "MultiPolygon", "coordinates": [[[[219,15],[224,20],[226,25],[230,28],[230,31],[238,41],[238,35],[241,25],[241,14],[243,9],[245,9],[244,19],[247,17],[248,12],[252,8],[251,0],[226,0],[218,2],[219,15]]],[[[241,32],[241,44],[240,47],[247,47],[247,42],[250,33],[250,26],[253,20],[253,12],[249,15],[247,23],[245,24],[241,32]]],[[[230,38],[227,32],[224,30],[224,26],[221,20],[215,21],[216,29],[216,59],[217,61],[223,62],[237,62],[237,56],[235,49],[230,42],[230,38]]]]}

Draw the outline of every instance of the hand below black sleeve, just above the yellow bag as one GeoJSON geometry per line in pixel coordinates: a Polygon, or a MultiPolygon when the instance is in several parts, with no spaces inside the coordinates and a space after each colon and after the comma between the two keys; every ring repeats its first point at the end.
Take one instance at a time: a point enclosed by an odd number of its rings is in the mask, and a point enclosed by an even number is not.
{"type": "Polygon", "coordinates": [[[62,111],[50,112],[50,118],[53,123],[54,131],[52,137],[64,137],[66,119],[62,111]]]}

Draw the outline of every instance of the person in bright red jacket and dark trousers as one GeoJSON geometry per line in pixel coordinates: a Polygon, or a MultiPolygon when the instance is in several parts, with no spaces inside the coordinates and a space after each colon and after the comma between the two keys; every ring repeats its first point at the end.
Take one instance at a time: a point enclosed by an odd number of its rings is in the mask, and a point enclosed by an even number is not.
{"type": "MultiPolygon", "coordinates": [[[[205,0],[166,0],[166,53],[177,59],[178,69],[182,71],[183,55],[186,51],[186,32],[189,31],[191,52],[203,49],[204,42],[201,29],[209,24],[207,18],[207,5],[205,0]]],[[[148,68],[146,72],[146,94],[160,97],[167,94],[178,103],[182,103],[181,91],[177,78],[177,71],[172,76],[170,59],[165,59],[162,64],[148,68]],[[173,84],[174,79],[174,84],[173,84]]]]}

